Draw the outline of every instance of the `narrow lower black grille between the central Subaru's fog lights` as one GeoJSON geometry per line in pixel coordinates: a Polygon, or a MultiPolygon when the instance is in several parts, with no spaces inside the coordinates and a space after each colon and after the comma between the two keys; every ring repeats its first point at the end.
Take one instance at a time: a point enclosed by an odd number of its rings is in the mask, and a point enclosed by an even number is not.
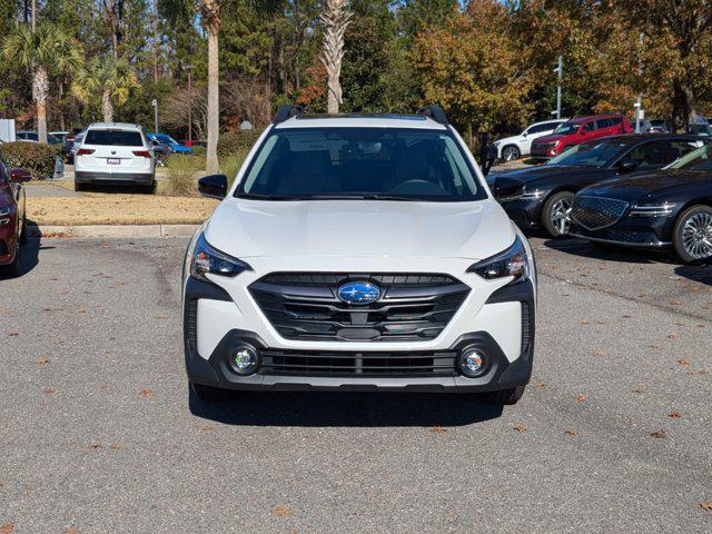
{"type": "Polygon", "coordinates": [[[261,352],[261,373],[308,376],[453,376],[455,350],[422,353],[261,352]]]}

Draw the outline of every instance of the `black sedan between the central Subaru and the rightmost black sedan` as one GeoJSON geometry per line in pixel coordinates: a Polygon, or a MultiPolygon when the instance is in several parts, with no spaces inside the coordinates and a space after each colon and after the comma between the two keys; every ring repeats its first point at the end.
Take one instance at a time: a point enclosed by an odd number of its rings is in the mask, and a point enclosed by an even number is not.
{"type": "Polygon", "coordinates": [[[705,142],[686,135],[639,134],[573,147],[545,165],[490,179],[494,195],[522,229],[568,233],[574,195],[581,188],[633,171],[662,168],[705,142]],[[493,184],[494,182],[494,184],[493,184]]]}

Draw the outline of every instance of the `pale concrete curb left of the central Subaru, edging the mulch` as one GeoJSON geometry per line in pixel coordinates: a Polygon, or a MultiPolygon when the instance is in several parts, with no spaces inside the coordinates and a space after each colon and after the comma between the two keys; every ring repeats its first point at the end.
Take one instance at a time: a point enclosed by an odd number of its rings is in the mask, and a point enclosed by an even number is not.
{"type": "Polygon", "coordinates": [[[191,237],[200,225],[28,226],[28,237],[191,237]]]}

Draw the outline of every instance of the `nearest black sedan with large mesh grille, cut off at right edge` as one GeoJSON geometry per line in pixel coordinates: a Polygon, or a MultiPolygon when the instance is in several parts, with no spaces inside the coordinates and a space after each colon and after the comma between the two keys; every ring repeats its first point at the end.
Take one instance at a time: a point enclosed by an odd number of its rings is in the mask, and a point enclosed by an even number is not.
{"type": "Polygon", "coordinates": [[[594,243],[674,248],[684,263],[712,258],[712,145],[664,170],[582,189],[572,218],[571,234],[594,243]]]}

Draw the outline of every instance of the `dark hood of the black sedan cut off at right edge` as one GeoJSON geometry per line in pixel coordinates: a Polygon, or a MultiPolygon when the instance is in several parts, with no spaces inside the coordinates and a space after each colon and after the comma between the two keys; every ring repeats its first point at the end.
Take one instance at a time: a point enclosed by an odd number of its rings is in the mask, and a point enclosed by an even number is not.
{"type": "Polygon", "coordinates": [[[632,202],[645,195],[664,189],[698,182],[710,182],[711,180],[710,172],[694,172],[682,169],[657,170],[604,180],[582,189],[578,195],[616,198],[632,202]]]}

